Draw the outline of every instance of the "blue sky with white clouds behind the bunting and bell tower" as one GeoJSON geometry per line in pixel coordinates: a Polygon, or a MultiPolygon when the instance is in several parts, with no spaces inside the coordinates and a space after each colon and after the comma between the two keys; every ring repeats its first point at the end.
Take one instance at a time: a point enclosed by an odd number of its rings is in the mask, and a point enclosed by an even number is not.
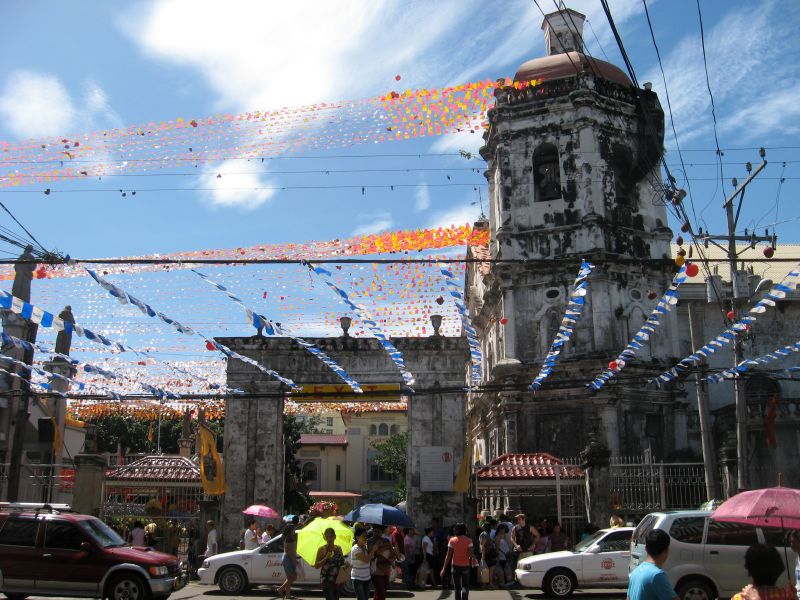
{"type": "MultiPolygon", "coordinates": [[[[554,8],[552,0],[539,3],[545,11],[554,8]]],[[[568,5],[589,17],[591,28],[587,27],[585,39],[592,54],[621,65],[599,2],[568,5]]],[[[792,221],[798,218],[794,200],[800,181],[800,79],[792,58],[800,46],[795,35],[800,29],[800,4],[702,0],[701,5],[719,141],[730,149],[723,157],[724,188],[712,150],[695,1],[648,2],[698,219],[712,230],[722,230],[720,206],[724,193],[731,190],[730,178],[742,180],[744,163],[758,161],[755,150],[732,149],[766,146],[770,165],[748,191],[742,227],[788,221],[777,228],[779,242],[800,242],[798,222],[792,221]],[[780,185],[782,174],[786,179],[780,185]]],[[[618,0],[611,7],[639,81],[652,81],[666,108],[642,3],[618,0]]],[[[544,54],[541,22],[535,4],[512,0],[6,1],[0,3],[0,140],[513,76],[521,63],[544,54]],[[402,77],[399,83],[396,75],[402,77]]],[[[684,174],[669,125],[667,131],[667,160],[682,185],[684,174]]],[[[181,176],[191,169],[174,169],[169,177],[117,177],[79,184],[81,189],[138,190],[136,196],[128,193],[125,198],[110,192],[45,196],[0,190],[0,200],[45,246],[76,257],[327,240],[473,220],[478,194],[472,184],[486,198],[482,163],[422,155],[462,148],[475,151],[478,146],[479,136],[469,134],[355,146],[315,152],[317,158],[214,164],[205,175],[181,176]],[[359,157],[329,156],[342,154],[359,157]],[[378,156],[386,154],[410,156],[378,156]],[[396,171],[335,172],[354,169],[396,171]],[[330,173],[307,172],[313,170],[330,173]],[[226,175],[217,179],[215,172],[226,175]],[[469,185],[425,187],[448,182],[469,185]],[[421,187],[393,192],[367,189],[364,194],[360,189],[230,189],[401,183],[421,187]],[[185,191],[147,192],[148,187],[185,191]],[[196,189],[205,187],[215,189],[196,189]]],[[[69,189],[70,184],[51,187],[69,189]]],[[[269,278],[265,273],[248,277],[269,278]]],[[[226,276],[235,283],[233,275],[226,276]]],[[[132,285],[140,283],[135,280],[132,285]]],[[[57,310],[75,291],[42,287],[41,297],[52,300],[47,308],[57,310]]],[[[213,298],[213,290],[207,294],[213,298]]],[[[90,304],[82,307],[87,318],[102,310],[93,312],[90,304]]],[[[180,303],[170,306],[179,312],[183,308],[180,303]]],[[[191,321],[196,314],[187,310],[184,318],[191,321]]]]}

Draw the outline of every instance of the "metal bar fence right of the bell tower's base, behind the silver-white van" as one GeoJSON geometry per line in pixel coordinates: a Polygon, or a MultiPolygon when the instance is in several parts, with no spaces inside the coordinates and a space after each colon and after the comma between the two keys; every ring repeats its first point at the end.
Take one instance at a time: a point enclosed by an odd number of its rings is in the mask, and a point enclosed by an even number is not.
{"type": "Polygon", "coordinates": [[[697,508],[706,501],[703,463],[665,463],[624,456],[612,459],[610,472],[615,511],[697,508]]]}

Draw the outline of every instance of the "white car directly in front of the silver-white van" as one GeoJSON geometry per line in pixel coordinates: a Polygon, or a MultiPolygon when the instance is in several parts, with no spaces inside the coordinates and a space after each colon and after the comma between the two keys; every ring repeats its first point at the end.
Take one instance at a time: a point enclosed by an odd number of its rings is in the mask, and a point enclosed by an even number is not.
{"type": "Polygon", "coordinates": [[[553,598],[565,598],[579,587],[625,589],[632,533],[633,527],[601,529],[573,550],[523,558],[517,563],[517,581],[553,598]]]}

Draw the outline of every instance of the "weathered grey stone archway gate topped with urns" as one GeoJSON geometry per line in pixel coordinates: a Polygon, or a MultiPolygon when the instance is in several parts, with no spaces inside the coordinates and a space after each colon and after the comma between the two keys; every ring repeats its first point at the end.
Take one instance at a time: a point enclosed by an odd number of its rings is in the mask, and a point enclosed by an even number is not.
{"type": "MultiPolygon", "coordinates": [[[[402,383],[397,367],[373,338],[307,338],[335,359],[360,384],[402,383]]],[[[217,338],[236,352],[289,377],[298,384],[336,384],[341,380],[290,338],[217,338]]],[[[407,509],[422,527],[435,516],[445,523],[467,519],[464,494],[423,491],[421,457],[438,446],[453,449],[457,470],[466,446],[464,385],[469,349],[466,338],[431,336],[394,338],[415,393],[409,395],[409,456],[406,471],[407,509]]],[[[286,457],[283,456],[283,393],[281,383],[240,360],[228,362],[227,383],[247,393],[230,398],[225,408],[224,460],[226,492],[222,503],[223,547],[238,543],[241,511],[250,504],[283,506],[286,457]]]]}

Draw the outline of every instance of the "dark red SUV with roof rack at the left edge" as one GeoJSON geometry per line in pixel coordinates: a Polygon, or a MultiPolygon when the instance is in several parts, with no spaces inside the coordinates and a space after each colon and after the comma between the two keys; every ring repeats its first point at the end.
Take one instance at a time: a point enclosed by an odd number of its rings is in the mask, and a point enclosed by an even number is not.
{"type": "Polygon", "coordinates": [[[133,548],[100,519],[66,505],[0,503],[0,592],[156,600],[178,589],[178,559],[133,548]]]}

